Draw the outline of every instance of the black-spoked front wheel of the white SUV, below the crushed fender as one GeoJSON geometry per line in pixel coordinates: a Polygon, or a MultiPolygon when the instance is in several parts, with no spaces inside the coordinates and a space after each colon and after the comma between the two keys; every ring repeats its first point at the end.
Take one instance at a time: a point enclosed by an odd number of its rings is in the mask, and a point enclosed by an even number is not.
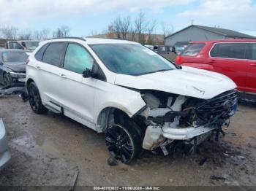
{"type": "Polygon", "coordinates": [[[114,124],[107,128],[105,141],[110,155],[121,163],[130,163],[142,152],[142,136],[138,126],[132,122],[127,125],[114,124]]]}

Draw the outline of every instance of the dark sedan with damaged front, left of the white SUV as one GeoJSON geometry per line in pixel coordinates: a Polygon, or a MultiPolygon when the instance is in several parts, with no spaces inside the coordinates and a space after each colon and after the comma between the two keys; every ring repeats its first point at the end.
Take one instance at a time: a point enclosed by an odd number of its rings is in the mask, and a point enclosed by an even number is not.
{"type": "Polygon", "coordinates": [[[25,82],[26,61],[31,52],[28,50],[0,50],[0,83],[11,85],[22,80],[25,82]]]}

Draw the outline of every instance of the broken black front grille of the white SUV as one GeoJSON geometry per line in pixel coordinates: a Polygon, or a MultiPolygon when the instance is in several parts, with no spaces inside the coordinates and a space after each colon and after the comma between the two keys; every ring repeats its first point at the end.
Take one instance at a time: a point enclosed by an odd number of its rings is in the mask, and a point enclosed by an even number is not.
{"type": "Polygon", "coordinates": [[[196,111],[201,117],[214,117],[222,112],[228,113],[233,110],[237,101],[236,90],[229,90],[214,98],[206,100],[197,106],[196,111]]]}

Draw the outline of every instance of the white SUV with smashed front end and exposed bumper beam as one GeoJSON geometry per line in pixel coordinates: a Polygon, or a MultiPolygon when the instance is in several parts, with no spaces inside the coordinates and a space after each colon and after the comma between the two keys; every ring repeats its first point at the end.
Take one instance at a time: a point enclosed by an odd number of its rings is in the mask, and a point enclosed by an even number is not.
{"type": "Polygon", "coordinates": [[[136,42],[50,39],[32,52],[26,87],[34,112],[50,109],[99,133],[129,163],[142,149],[175,141],[194,147],[219,135],[236,112],[236,84],[210,71],[180,67],[136,42]]]}

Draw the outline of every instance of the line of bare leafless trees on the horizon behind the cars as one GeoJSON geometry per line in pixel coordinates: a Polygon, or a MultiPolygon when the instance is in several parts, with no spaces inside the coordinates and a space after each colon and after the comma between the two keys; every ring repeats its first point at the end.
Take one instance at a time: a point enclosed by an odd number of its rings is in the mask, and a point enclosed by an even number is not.
{"type": "MultiPolygon", "coordinates": [[[[13,40],[38,40],[42,41],[50,38],[61,38],[70,36],[71,29],[69,26],[60,26],[54,31],[48,28],[41,30],[20,31],[15,26],[0,26],[0,38],[13,40]]],[[[162,34],[162,37],[173,33],[173,26],[167,23],[158,23],[157,20],[150,20],[146,17],[145,12],[138,12],[138,15],[132,19],[127,17],[116,17],[110,21],[107,29],[102,31],[103,34],[109,34],[107,37],[117,39],[129,39],[141,44],[158,44],[158,37],[154,34],[162,34]]],[[[91,35],[97,35],[97,31],[92,31],[91,35]]],[[[162,38],[163,39],[163,38],[162,38]]]]}

